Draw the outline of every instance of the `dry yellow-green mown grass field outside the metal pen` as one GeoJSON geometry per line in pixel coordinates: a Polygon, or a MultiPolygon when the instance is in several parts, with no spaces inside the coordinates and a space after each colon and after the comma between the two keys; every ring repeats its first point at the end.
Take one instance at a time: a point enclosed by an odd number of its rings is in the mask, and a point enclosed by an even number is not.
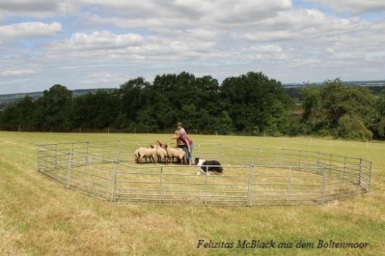
{"type": "Polygon", "coordinates": [[[168,141],[167,134],[0,132],[0,255],[384,255],[385,145],[309,138],[191,136],[194,141],[285,146],[374,163],[373,192],[324,206],[117,205],[35,172],[40,142],[168,141]],[[197,248],[252,239],[293,248],[197,248]],[[367,248],[295,248],[299,241],[367,242],[367,248]]]}

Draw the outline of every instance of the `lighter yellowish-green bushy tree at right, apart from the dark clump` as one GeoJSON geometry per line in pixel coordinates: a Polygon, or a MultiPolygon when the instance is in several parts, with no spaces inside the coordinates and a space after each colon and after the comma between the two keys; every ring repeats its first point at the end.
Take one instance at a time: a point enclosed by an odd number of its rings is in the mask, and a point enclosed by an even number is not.
{"type": "Polygon", "coordinates": [[[377,129],[379,115],[373,111],[374,96],[365,88],[346,87],[337,78],[319,87],[302,87],[301,98],[302,124],[308,134],[367,140],[372,139],[368,128],[377,129]]]}

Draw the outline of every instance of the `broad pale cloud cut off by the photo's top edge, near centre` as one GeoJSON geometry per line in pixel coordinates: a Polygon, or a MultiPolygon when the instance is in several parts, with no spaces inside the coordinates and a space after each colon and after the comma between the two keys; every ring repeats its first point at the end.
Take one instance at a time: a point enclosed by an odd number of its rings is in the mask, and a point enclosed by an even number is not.
{"type": "Polygon", "coordinates": [[[291,8],[290,0],[226,1],[87,1],[83,3],[109,9],[103,17],[87,13],[89,23],[117,27],[143,27],[149,30],[188,30],[197,27],[231,29],[252,25],[291,8]],[[112,11],[114,10],[114,12],[112,11]],[[109,13],[114,15],[108,15],[109,13]]]}

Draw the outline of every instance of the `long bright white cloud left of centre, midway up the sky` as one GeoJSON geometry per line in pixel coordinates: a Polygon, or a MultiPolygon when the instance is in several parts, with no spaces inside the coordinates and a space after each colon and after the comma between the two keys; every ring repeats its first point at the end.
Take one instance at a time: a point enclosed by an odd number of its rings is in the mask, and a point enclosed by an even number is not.
{"type": "Polygon", "coordinates": [[[130,63],[200,59],[215,53],[216,42],[205,40],[179,40],[161,36],[142,37],[139,34],[113,34],[111,32],[76,33],[70,39],[53,41],[46,46],[45,58],[62,60],[130,63]]]}

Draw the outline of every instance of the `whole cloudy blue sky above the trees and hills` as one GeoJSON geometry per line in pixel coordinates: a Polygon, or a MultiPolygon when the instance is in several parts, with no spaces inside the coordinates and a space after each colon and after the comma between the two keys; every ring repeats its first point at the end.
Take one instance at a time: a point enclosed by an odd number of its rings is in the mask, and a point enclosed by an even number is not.
{"type": "Polygon", "coordinates": [[[0,0],[0,94],[181,71],[385,79],[385,1],[0,0]]]}

